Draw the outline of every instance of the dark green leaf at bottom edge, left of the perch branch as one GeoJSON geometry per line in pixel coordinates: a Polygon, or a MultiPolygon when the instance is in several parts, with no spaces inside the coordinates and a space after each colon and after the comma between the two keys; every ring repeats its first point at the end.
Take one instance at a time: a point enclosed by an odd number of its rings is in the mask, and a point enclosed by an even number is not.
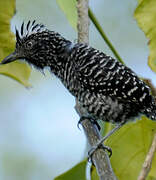
{"type": "Polygon", "coordinates": [[[54,180],[86,180],[86,164],[84,160],[54,180]]]}

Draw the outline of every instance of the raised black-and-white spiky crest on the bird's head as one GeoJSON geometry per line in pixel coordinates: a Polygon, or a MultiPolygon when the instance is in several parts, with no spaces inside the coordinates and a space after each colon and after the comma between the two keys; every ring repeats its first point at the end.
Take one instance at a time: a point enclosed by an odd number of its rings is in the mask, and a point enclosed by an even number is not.
{"type": "Polygon", "coordinates": [[[21,40],[23,38],[27,38],[31,34],[42,32],[46,30],[46,27],[43,24],[37,24],[34,20],[33,22],[28,21],[27,24],[24,24],[24,22],[21,25],[20,30],[16,29],[16,40],[18,43],[21,43],[21,40]]]}

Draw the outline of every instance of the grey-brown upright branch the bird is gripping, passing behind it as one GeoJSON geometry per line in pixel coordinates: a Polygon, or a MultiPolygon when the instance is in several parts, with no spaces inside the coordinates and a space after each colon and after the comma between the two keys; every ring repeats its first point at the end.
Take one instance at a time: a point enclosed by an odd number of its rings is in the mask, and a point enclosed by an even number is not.
{"type": "MultiPolygon", "coordinates": [[[[89,42],[89,18],[88,18],[88,0],[77,0],[77,12],[78,12],[78,42],[89,42]]],[[[83,108],[79,102],[76,102],[75,109],[80,117],[85,114],[83,108]]],[[[96,125],[94,125],[89,119],[82,121],[82,127],[86,134],[88,143],[90,146],[95,146],[102,138],[96,125]]],[[[96,167],[100,180],[116,180],[113,173],[110,160],[107,152],[104,149],[98,149],[92,156],[92,161],[96,167]]]]}

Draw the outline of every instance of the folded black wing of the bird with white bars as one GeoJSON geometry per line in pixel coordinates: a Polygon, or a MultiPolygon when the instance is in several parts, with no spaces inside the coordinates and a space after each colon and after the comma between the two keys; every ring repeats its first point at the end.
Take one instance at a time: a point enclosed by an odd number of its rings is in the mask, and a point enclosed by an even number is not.
{"type": "Polygon", "coordinates": [[[149,87],[117,60],[95,49],[77,61],[76,79],[89,91],[143,105],[148,101],[149,87]]]}

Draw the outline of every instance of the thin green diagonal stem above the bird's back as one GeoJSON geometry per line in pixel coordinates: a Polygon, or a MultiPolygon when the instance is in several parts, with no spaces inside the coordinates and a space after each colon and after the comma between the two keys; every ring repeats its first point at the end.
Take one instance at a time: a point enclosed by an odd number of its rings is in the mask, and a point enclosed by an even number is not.
{"type": "Polygon", "coordinates": [[[103,31],[100,23],[98,22],[97,18],[95,17],[94,13],[92,12],[92,10],[89,8],[88,10],[88,15],[91,19],[91,21],[93,22],[93,24],[95,25],[96,29],[99,31],[100,35],[102,36],[102,38],[104,39],[104,41],[106,42],[106,44],[108,45],[108,47],[111,49],[111,51],[113,52],[114,56],[122,63],[124,64],[124,61],[122,60],[122,58],[120,57],[120,55],[118,54],[118,52],[116,51],[116,49],[114,48],[114,46],[112,45],[112,43],[110,42],[110,40],[108,39],[108,37],[106,36],[105,32],[103,31]]]}

